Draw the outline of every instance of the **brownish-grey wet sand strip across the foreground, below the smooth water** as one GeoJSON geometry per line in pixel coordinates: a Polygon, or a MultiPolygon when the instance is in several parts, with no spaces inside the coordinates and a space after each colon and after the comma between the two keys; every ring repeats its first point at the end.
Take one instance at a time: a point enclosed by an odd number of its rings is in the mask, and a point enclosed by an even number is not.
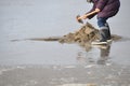
{"type": "Polygon", "coordinates": [[[130,67],[15,66],[0,67],[1,86],[129,86],[130,67]]]}

